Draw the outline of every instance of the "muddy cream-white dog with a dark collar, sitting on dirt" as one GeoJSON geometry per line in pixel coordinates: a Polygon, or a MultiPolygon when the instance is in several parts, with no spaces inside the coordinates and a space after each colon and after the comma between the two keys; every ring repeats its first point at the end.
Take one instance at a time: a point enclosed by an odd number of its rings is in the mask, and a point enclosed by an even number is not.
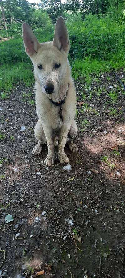
{"type": "Polygon", "coordinates": [[[55,146],[58,145],[60,163],[69,163],[64,148],[78,152],[72,138],[78,128],[74,120],[76,114],[76,93],[71,78],[68,61],[70,41],[63,17],[55,24],[54,38],[51,42],[39,43],[32,29],[23,23],[23,42],[25,51],[34,66],[35,99],[38,122],[34,128],[38,144],[32,150],[40,154],[43,144],[47,144],[46,166],[54,164],[55,146]]]}

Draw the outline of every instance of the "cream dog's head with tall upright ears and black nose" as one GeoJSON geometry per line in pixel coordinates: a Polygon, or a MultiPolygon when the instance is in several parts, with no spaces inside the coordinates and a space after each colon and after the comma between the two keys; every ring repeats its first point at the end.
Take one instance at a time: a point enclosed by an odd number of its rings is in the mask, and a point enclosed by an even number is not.
{"type": "Polygon", "coordinates": [[[22,29],[25,50],[32,60],[35,78],[42,92],[58,92],[69,68],[70,42],[63,17],[59,17],[56,22],[53,42],[39,43],[27,23],[23,23],[22,29]]]}

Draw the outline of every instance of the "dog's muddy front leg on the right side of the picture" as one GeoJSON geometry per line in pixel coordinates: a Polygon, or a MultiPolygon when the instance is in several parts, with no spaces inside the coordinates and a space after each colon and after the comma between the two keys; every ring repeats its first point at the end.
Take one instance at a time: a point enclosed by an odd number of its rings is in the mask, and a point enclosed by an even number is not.
{"type": "MultiPolygon", "coordinates": [[[[72,123],[72,122],[71,122],[72,123]]],[[[60,132],[60,138],[59,138],[59,145],[58,145],[58,159],[60,163],[69,163],[68,156],[64,152],[64,148],[67,141],[68,132],[70,130],[71,124],[68,123],[68,125],[63,124],[60,132]]]]}

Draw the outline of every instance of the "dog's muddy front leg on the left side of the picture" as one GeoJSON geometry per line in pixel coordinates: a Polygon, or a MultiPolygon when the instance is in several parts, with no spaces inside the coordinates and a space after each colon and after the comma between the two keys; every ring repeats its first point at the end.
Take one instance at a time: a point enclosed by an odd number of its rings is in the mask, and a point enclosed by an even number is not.
{"type": "Polygon", "coordinates": [[[48,154],[44,163],[46,166],[52,166],[55,160],[55,146],[53,142],[53,130],[50,127],[43,125],[43,130],[47,139],[48,154]]]}

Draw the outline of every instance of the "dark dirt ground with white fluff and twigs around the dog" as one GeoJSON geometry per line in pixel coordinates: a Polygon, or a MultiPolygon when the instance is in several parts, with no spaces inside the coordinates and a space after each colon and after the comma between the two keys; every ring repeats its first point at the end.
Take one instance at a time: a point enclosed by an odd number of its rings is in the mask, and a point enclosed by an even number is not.
{"type": "Polygon", "coordinates": [[[46,167],[46,146],[32,155],[33,89],[18,84],[0,101],[0,277],[125,277],[125,94],[113,73],[76,91],[87,105],[77,106],[78,153],[66,146],[69,172],[58,158],[46,167]]]}

